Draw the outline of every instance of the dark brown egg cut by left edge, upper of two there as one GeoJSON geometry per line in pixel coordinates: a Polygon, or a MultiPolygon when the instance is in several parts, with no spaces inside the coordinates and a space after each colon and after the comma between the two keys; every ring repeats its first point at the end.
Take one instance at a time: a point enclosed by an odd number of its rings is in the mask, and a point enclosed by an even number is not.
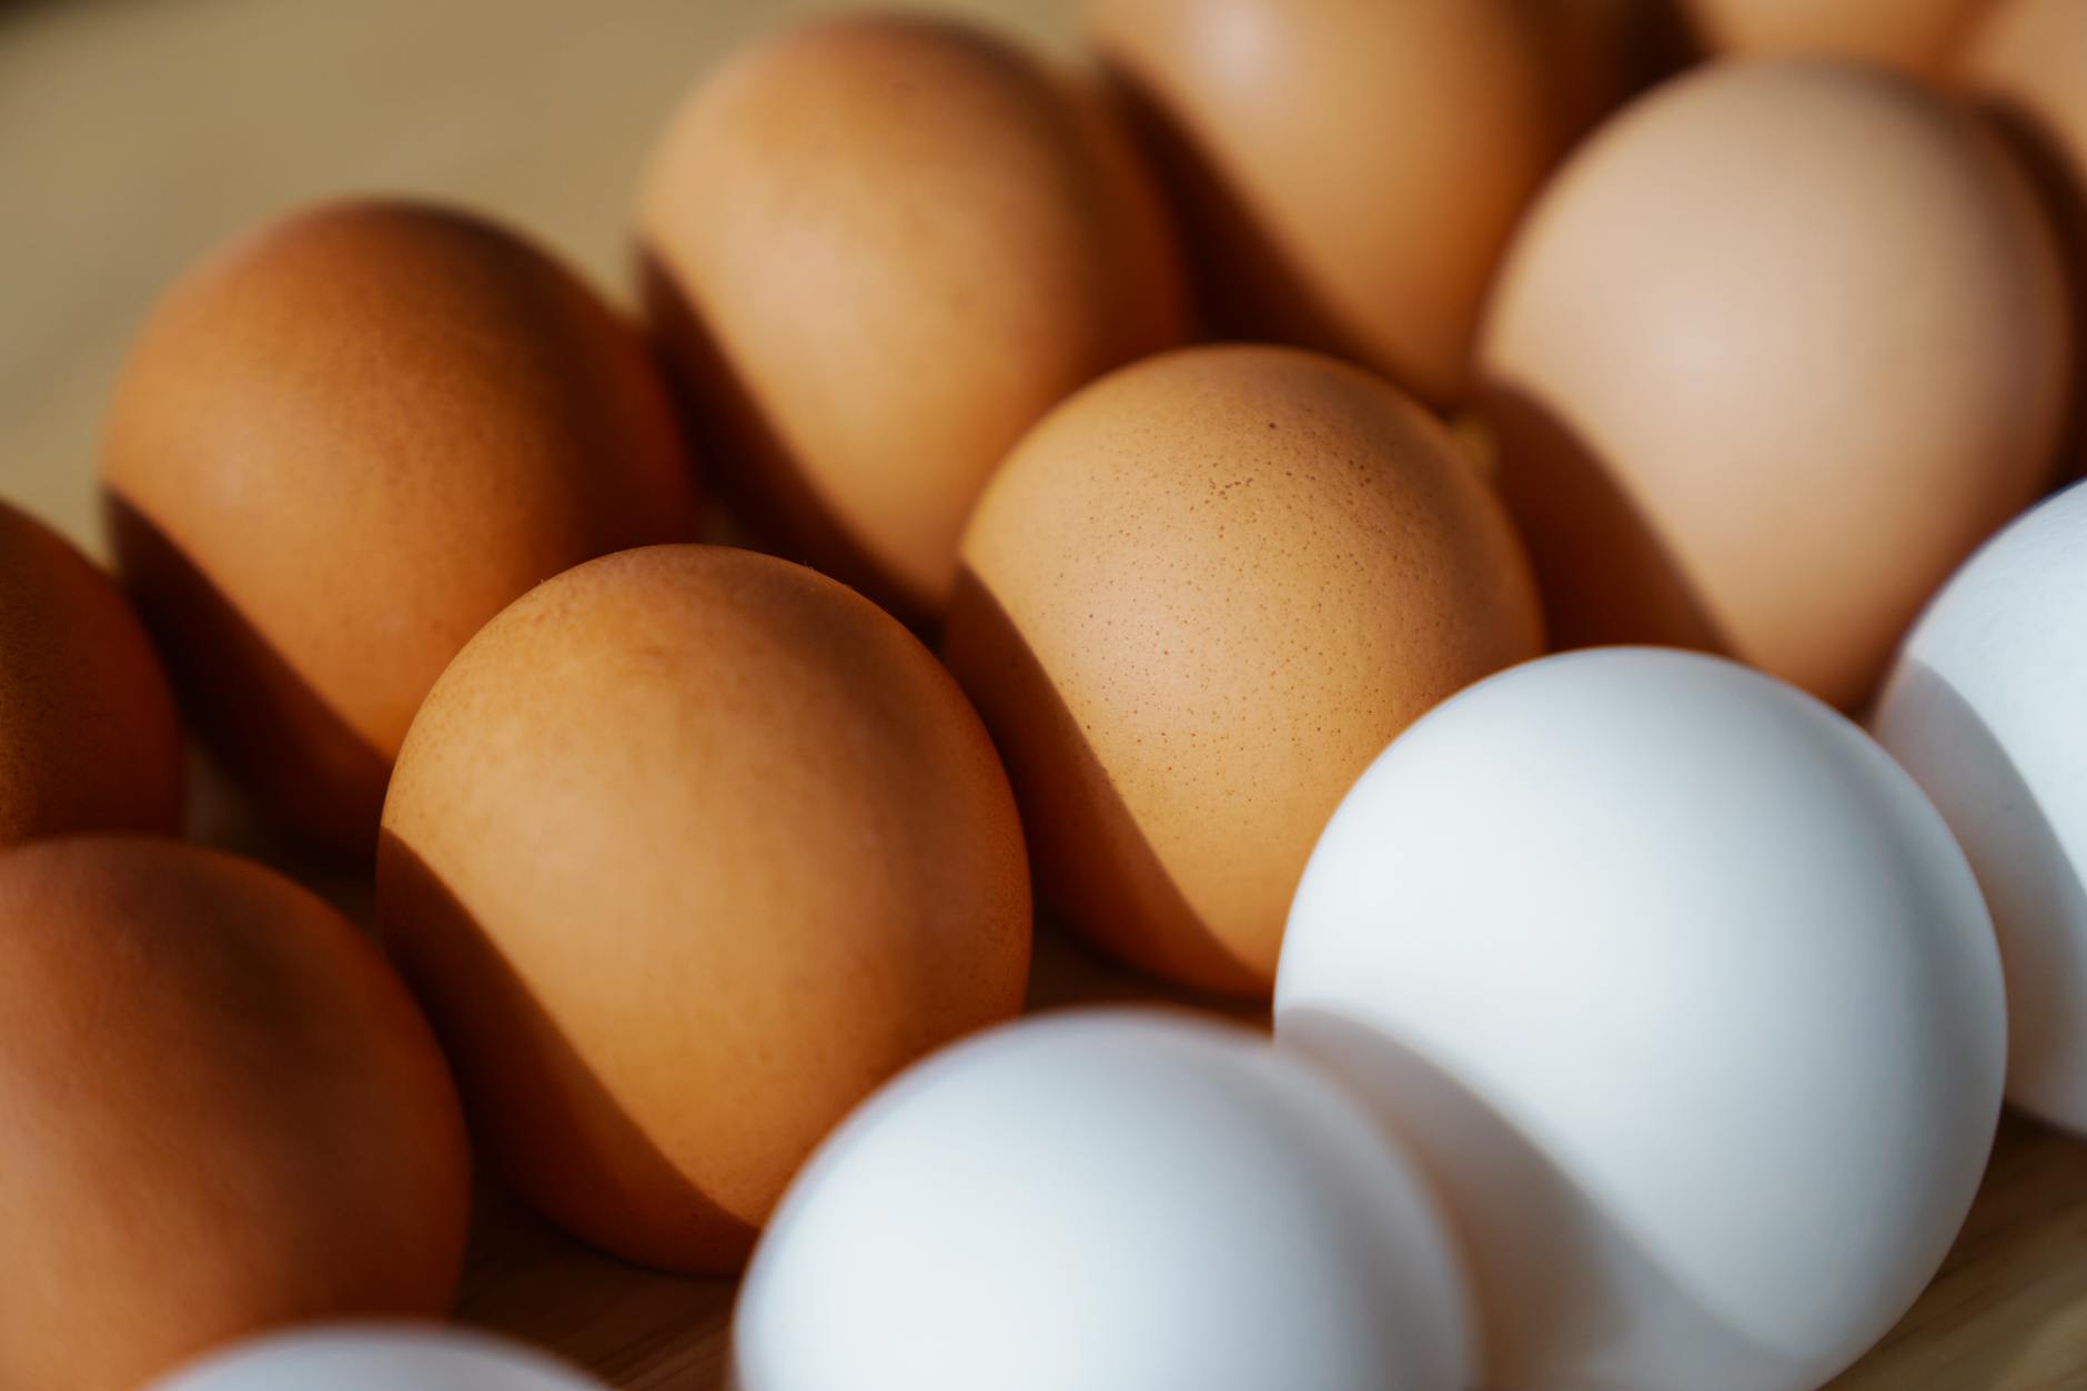
{"type": "Polygon", "coordinates": [[[182,829],[182,725],[123,593],[0,503],[0,846],[182,829]]]}

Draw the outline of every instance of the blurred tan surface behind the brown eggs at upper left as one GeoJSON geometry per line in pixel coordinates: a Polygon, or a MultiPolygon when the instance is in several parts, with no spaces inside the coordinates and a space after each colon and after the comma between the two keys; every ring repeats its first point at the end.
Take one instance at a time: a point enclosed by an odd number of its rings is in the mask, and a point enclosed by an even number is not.
{"type": "MultiPolygon", "coordinates": [[[[695,75],[835,0],[0,0],[0,491],[102,551],[100,411],[184,267],[311,198],[445,194],[630,301],[695,75]]],[[[1071,52],[1077,0],[929,0],[1071,52]]]]}

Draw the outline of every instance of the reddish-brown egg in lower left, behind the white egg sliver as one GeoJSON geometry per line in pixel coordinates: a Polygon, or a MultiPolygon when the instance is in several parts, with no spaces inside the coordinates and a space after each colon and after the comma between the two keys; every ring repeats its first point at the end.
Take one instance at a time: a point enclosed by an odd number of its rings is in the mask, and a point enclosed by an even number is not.
{"type": "Polygon", "coordinates": [[[438,1316],[463,1119],[309,892],[165,840],[0,854],[0,1385],[131,1391],[273,1324],[438,1316]]]}

